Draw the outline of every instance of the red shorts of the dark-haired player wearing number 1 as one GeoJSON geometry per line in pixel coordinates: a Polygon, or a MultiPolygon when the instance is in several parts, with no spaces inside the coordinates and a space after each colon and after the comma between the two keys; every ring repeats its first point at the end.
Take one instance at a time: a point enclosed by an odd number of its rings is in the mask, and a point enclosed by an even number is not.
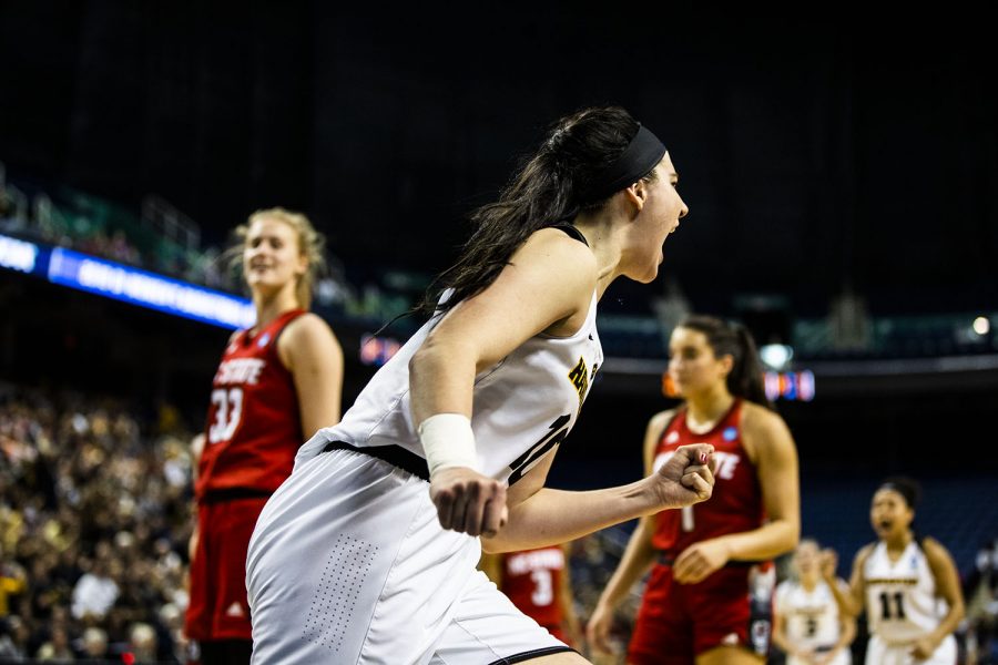
{"type": "Polygon", "coordinates": [[[766,655],[772,587],[750,593],[754,566],[729,565],[699,584],[678,584],[672,566],[652,569],[628,647],[631,665],[692,664],[717,646],[766,655]]]}

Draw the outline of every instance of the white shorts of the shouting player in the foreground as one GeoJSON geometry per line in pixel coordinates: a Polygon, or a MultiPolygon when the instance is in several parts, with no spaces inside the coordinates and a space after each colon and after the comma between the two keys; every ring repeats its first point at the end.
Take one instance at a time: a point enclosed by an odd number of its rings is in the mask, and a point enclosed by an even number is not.
{"type": "Polygon", "coordinates": [[[298,460],[249,541],[254,665],[519,663],[571,651],[475,569],[429,485],[349,450],[298,460]]]}

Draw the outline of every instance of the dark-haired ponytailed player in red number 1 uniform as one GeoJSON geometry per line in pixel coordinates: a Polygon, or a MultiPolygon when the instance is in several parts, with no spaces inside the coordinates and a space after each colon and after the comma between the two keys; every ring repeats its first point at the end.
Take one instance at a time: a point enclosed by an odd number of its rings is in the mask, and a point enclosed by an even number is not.
{"type": "Polygon", "coordinates": [[[666,380],[684,402],[648,424],[651,473],[686,443],[714,446],[713,497],[639,523],[589,622],[605,651],[613,610],[651,569],[628,663],[760,664],[768,652],[772,560],[801,531],[797,453],[771,410],[755,342],[740,325],[690,316],[672,332],[666,380]]]}

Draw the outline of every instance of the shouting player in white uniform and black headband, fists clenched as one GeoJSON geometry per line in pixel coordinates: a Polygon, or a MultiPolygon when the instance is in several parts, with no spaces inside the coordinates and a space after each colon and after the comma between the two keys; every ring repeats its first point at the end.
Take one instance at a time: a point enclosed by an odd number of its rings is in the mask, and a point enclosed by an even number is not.
{"type": "Polygon", "coordinates": [[[686,214],[676,180],[646,127],[587,109],[475,214],[434,316],[302,448],[257,522],[254,663],[584,663],[475,566],[481,548],[710,497],[706,444],[629,485],[543,488],[602,362],[597,301],[619,276],[654,279],[686,214]]]}

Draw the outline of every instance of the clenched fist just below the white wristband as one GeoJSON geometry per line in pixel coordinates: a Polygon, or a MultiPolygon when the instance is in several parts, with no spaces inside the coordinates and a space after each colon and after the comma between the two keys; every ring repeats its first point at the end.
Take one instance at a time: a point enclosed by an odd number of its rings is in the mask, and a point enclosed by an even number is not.
{"type": "Polygon", "coordinates": [[[440,526],[492,538],[506,525],[506,485],[467,467],[440,469],[430,479],[440,526]]]}

